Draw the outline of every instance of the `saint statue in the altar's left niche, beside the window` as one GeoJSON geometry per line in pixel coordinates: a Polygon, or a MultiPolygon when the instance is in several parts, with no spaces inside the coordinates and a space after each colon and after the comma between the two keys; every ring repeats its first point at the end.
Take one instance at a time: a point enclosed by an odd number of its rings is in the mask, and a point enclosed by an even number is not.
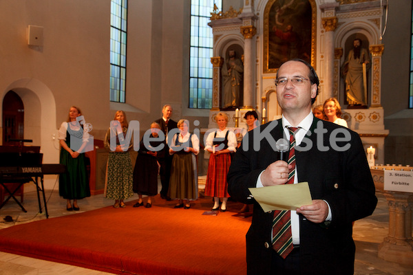
{"type": "Polygon", "coordinates": [[[229,50],[229,58],[222,65],[221,72],[223,102],[222,107],[239,107],[244,65],[242,65],[240,58],[237,58],[234,50],[229,50]]]}

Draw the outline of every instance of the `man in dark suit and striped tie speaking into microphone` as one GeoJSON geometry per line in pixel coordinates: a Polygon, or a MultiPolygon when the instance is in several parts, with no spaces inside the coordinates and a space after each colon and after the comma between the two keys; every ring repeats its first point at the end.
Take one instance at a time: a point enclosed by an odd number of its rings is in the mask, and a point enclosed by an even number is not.
{"type": "Polygon", "coordinates": [[[314,117],[319,79],[306,61],[284,63],[275,83],[282,119],[248,132],[228,174],[231,197],[255,204],[246,234],[248,274],[353,274],[352,222],[372,214],[377,204],[361,139],[314,117]],[[280,160],[275,146],[283,137],[290,139],[289,126],[297,127],[295,164],[280,160]],[[292,183],[308,181],[313,203],[286,211],[290,235],[284,253],[275,244],[275,212],[264,212],[248,188],[286,184],[292,170],[292,183]]]}

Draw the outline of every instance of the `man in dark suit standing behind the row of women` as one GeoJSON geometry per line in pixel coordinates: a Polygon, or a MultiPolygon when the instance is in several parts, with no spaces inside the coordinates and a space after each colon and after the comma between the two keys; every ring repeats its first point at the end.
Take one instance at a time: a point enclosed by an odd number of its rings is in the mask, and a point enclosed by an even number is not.
{"type": "MultiPolygon", "coordinates": [[[[172,116],[172,107],[169,104],[166,104],[162,108],[162,118],[159,120],[155,120],[156,123],[160,125],[160,129],[165,134],[165,138],[167,139],[169,131],[174,128],[178,128],[177,123],[171,120],[172,116]]],[[[163,154],[165,157],[158,158],[158,162],[160,164],[160,183],[162,184],[162,189],[160,190],[160,197],[162,199],[166,199],[170,201],[171,198],[168,197],[168,189],[169,189],[169,177],[171,176],[171,164],[172,164],[172,157],[169,155],[169,147],[165,146],[163,149],[163,154]]]]}

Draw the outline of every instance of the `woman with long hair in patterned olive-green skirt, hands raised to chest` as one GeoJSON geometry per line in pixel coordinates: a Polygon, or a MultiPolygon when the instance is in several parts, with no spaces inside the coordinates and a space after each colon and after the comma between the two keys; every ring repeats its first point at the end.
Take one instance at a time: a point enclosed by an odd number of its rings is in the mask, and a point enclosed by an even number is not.
{"type": "Polygon", "coordinates": [[[114,208],[125,208],[123,201],[134,195],[132,188],[134,177],[129,155],[134,144],[133,137],[130,142],[125,140],[128,126],[125,112],[116,111],[114,121],[111,122],[105,136],[104,145],[109,150],[105,197],[115,200],[114,208]]]}

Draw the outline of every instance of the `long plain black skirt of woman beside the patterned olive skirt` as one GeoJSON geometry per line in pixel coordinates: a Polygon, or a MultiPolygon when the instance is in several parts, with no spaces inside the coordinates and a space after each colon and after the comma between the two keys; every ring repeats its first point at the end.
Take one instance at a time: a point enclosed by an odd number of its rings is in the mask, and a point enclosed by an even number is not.
{"type": "Polygon", "coordinates": [[[134,192],[140,195],[158,194],[158,162],[156,157],[138,153],[134,168],[134,192]]]}

